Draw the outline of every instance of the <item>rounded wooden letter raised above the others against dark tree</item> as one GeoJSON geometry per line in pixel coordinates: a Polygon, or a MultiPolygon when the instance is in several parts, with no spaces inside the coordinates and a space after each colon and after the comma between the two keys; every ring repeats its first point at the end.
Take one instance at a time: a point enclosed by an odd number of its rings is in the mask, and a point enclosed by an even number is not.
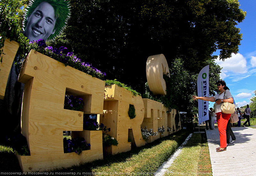
{"type": "Polygon", "coordinates": [[[166,95],[163,74],[169,73],[169,67],[163,54],[148,57],[146,73],[150,91],[155,95],[166,95]]]}

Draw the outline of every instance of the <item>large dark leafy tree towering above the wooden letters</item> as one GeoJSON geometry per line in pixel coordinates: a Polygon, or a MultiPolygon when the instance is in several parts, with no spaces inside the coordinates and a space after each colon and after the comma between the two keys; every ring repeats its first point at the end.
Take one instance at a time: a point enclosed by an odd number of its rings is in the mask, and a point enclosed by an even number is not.
{"type": "Polygon", "coordinates": [[[79,58],[144,92],[145,63],[164,54],[180,58],[196,74],[217,56],[237,53],[245,17],[237,0],[73,0],[64,34],[52,45],[72,48],[79,58]]]}

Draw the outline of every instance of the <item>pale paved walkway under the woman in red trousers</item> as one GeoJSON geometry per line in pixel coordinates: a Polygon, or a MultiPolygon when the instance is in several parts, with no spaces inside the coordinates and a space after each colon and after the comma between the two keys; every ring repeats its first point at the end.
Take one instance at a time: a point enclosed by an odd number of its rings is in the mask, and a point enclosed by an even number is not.
{"type": "Polygon", "coordinates": [[[215,150],[220,144],[218,128],[205,130],[213,176],[256,176],[256,129],[233,127],[232,130],[236,141],[222,152],[215,150]]]}

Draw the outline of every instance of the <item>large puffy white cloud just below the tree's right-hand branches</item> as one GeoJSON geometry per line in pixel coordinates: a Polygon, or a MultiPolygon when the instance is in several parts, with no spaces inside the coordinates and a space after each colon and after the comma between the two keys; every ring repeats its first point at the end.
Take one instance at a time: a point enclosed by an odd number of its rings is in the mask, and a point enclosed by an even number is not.
{"type": "Polygon", "coordinates": [[[240,74],[247,72],[246,59],[240,53],[233,53],[230,58],[225,59],[225,62],[220,60],[220,58],[218,57],[215,62],[220,65],[220,67],[223,67],[223,69],[221,70],[222,73],[225,73],[223,74],[223,76],[227,75],[226,73],[228,71],[240,74]]]}

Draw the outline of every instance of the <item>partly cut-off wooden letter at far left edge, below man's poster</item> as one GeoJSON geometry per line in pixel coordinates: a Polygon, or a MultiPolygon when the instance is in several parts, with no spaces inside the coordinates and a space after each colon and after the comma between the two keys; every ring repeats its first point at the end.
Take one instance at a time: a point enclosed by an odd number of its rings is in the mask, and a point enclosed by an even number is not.
{"type": "Polygon", "coordinates": [[[0,62],[0,99],[4,99],[7,80],[12,67],[13,59],[17,53],[18,48],[19,44],[17,42],[10,42],[10,39],[6,39],[4,41],[4,54],[2,53],[2,55],[0,55],[0,60],[3,56],[3,62],[0,62]]]}

